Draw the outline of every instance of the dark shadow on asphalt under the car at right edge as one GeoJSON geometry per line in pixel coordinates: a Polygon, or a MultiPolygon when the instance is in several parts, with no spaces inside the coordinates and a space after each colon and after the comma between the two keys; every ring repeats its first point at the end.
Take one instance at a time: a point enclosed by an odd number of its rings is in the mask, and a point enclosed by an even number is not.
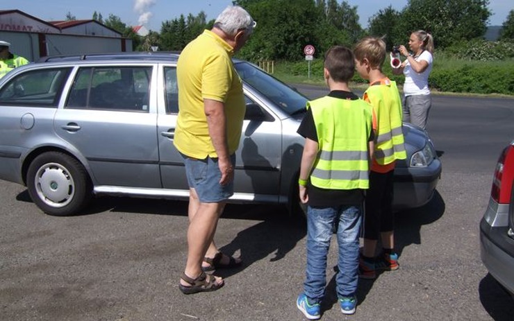
{"type": "Polygon", "coordinates": [[[489,273],[480,281],[479,297],[483,309],[493,320],[513,320],[514,295],[511,296],[489,273]]]}

